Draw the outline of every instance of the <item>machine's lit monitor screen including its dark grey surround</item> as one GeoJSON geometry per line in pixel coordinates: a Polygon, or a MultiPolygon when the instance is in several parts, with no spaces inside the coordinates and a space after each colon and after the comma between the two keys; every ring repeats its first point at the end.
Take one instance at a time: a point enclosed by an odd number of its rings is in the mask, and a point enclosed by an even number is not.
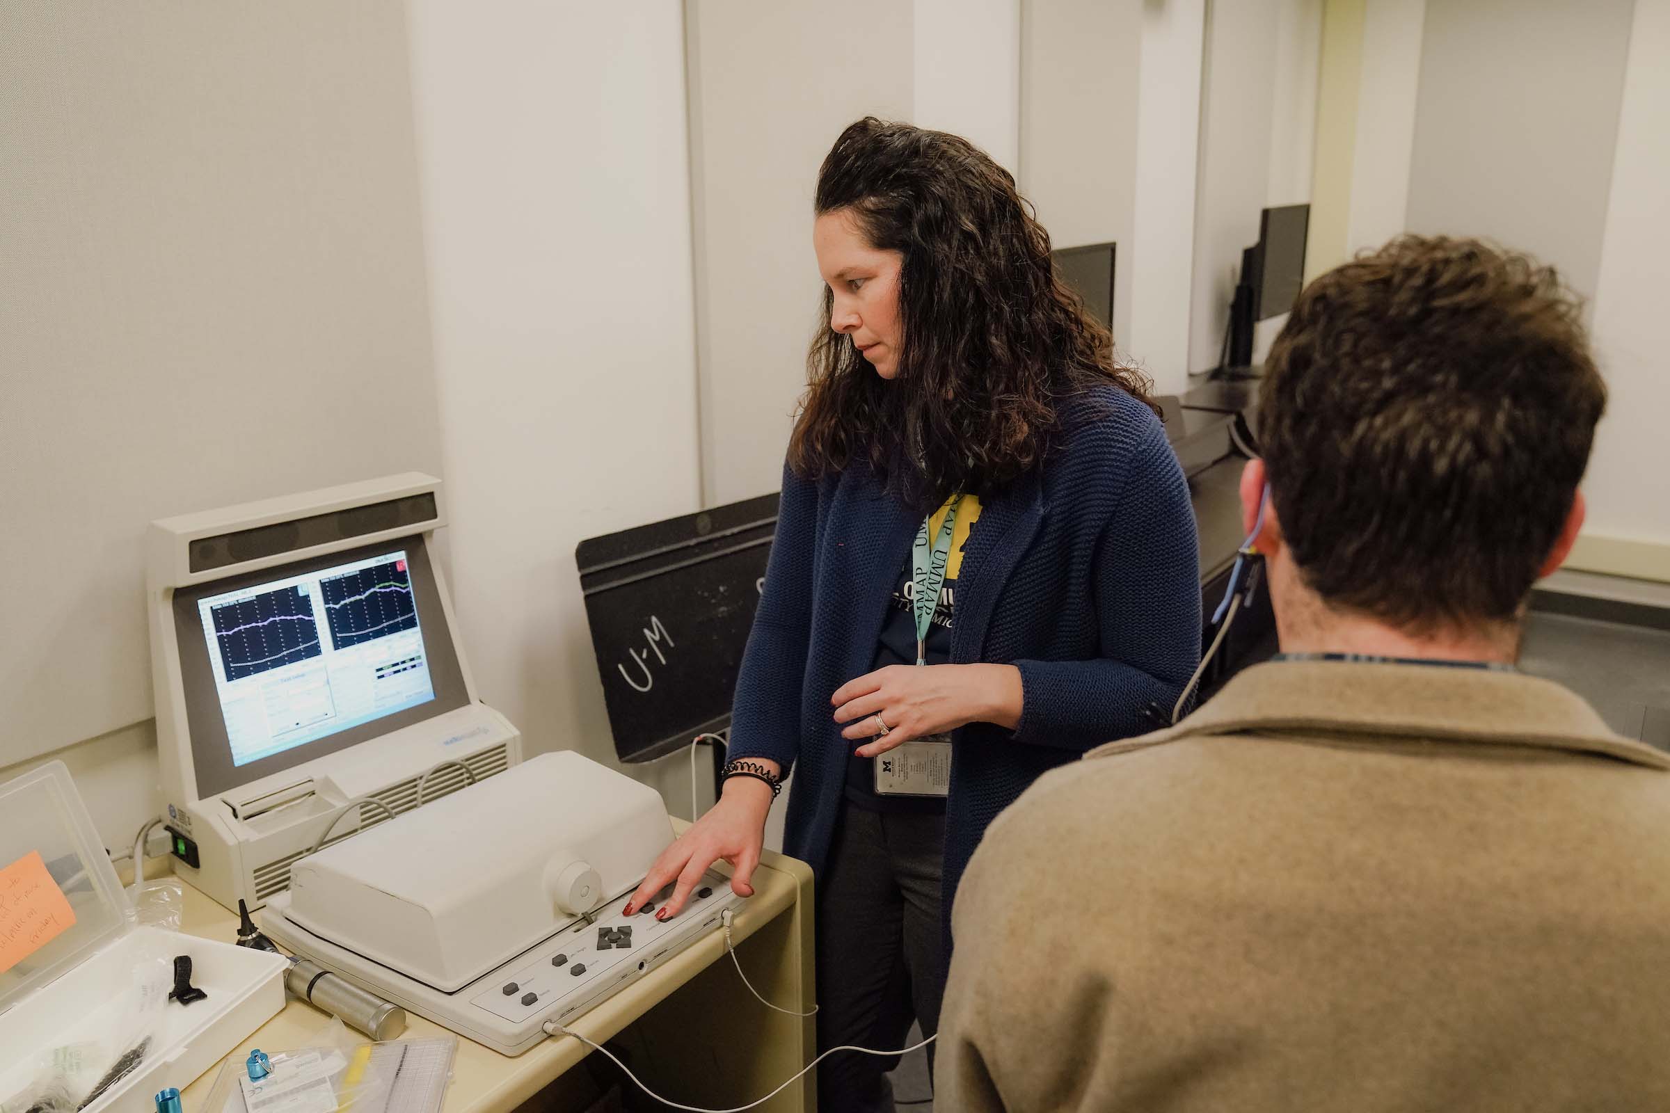
{"type": "Polygon", "coordinates": [[[199,794],[468,701],[423,537],[175,592],[199,794]]]}

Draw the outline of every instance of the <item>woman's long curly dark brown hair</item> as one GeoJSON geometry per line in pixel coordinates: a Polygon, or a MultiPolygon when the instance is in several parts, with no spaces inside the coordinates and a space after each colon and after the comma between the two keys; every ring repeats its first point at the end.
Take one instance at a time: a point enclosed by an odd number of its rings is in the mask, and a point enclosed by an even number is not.
{"type": "Polygon", "coordinates": [[[1149,380],[1114,362],[1107,329],[1055,274],[1015,179],[969,140],[865,117],[823,160],[813,209],[852,210],[870,247],[903,255],[903,339],[885,382],[828,327],[823,290],[788,447],[797,474],[868,459],[910,502],[932,506],[1037,467],[1067,395],[1114,384],[1149,400],[1149,380]]]}

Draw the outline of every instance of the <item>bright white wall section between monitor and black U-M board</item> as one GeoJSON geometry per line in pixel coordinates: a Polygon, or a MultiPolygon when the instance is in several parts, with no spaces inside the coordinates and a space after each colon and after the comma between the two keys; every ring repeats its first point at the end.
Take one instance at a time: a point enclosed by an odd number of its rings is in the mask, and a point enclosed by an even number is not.
{"type": "Polygon", "coordinates": [[[528,754],[613,759],[576,542],[698,509],[683,47],[676,0],[411,2],[453,599],[528,754]]]}

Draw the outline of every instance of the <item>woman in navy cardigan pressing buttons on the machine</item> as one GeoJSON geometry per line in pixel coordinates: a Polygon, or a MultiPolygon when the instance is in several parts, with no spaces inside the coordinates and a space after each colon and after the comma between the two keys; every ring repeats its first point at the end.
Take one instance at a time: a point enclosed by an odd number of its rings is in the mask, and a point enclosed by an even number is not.
{"type": "MultiPolygon", "coordinates": [[[[818,876],[818,1040],[880,1050],[902,1046],[912,1015],[935,1030],[942,913],[992,818],[1172,706],[1197,661],[1201,587],[1147,384],[1114,364],[1002,167],[954,135],[865,118],[825,159],[815,212],[828,329],[788,446],[731,761],[628,913],[676,878],[656,914],[678,914],[720,858],[748,896],[793,766],[785,849],[818,876]]],[[[823,1108],[888,1108],[888,1068],[832,1056],[823,1108]]]]}

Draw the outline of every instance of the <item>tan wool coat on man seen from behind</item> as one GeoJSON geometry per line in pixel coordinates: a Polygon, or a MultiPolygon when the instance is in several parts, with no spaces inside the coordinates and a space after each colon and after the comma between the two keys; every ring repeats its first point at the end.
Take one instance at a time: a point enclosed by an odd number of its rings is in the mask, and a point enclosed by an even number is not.
{"type": "Polygon", "coordinates": [[[1670,1110],[1667,769],[1513,671],[1247,669],[987,831],[935,1108],[1670,1110]]]}

